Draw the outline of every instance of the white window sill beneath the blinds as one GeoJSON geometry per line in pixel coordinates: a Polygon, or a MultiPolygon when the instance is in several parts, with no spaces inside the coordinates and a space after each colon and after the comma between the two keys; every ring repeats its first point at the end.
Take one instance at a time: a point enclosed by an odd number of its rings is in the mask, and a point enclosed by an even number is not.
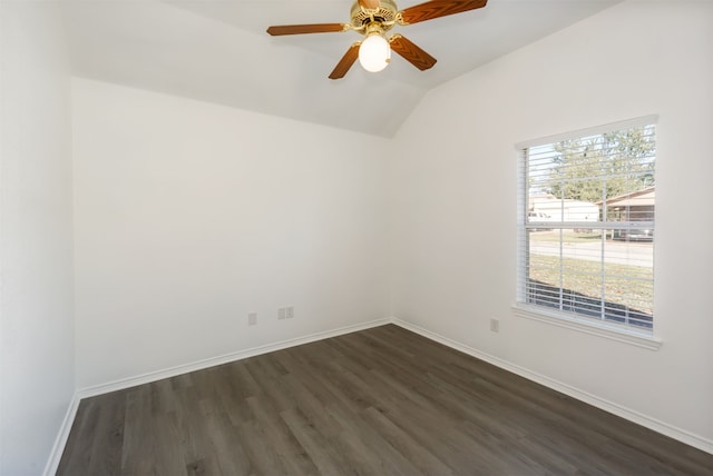
{"type": "Polygon", "coordinates": [[[663,344],[663,340],[655,336],[623,330],[596,320],[575,319],[564,314],[547,313],[543,311],[539,307],[528,306],[521,303],[512,305],[512,311],[516,316],[526,319],[538,320],[551,326],[564,327],[565,329],[577,330],[649,350],[658,350],[663,344]]]}

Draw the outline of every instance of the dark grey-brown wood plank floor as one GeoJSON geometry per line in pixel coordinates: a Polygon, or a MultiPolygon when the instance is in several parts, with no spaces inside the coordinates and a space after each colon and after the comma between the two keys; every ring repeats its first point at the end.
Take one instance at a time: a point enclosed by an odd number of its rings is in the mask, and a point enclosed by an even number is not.
{"type": "Polygon", "coordinates": [[[59,475],[712,475],[700,452],[397,326],[81,401],[59,475]]]}

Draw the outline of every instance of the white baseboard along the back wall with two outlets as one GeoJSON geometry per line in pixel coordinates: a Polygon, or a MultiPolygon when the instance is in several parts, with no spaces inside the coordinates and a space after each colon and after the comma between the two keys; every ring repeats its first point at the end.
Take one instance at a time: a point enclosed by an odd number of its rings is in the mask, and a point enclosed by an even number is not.
{"type": "Polygon", "coordinates": [[[149,371],[147,374],[138,375],[135,377],[121,378],[106,384],[95,385],[92,387],[81,388],[77,390],[79,399],[95,397],[97,395],[108,394],[109,391],[123,390],[125,388],[135,387],[137,385],[149,384],[156,380],[163,380],[164,378],[175,377],[177,375],[187,374],[195,370],[203,370],[205,368],[214,367],[217,365],[228,364],[244,358],[258,356],[262,354],[272,353],[275,350],[282,350],[303,344],[313,343],[315,340],[329,339],[330,337],[336,337],[344,334],[355,333],[358,330],[369,329],[372,327],[383,326],[391,323],[390,318],[374,319],[368,323],[356,324],[353,326],[340,327],[323,333],[311,334],[309,336],[296,337],[294,339],[287,339],[280,343],[267,344],[265,346],[253,347],[245,350],[238,350],[235,353],[225,354],[217,357],[211,357],[207,359],[178,365],[176,367],[166,368],[163,370],[149,371]]]}

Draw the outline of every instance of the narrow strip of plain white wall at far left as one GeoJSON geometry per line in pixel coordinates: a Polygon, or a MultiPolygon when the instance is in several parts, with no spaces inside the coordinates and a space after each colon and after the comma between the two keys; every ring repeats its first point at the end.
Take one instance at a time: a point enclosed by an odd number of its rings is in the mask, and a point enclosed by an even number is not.
{"type": "Polygon", "coordinates": [[[40,474],[75,390],[69,75],[57,6],[0,2],[0,474],[40,474]]]}

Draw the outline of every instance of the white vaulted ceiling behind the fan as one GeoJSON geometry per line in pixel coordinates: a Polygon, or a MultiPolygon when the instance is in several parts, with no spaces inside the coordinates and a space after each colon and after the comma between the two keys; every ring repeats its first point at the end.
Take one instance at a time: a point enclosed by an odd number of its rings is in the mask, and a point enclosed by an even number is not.
{"type": "MultiPolygon", "coordinates": [[[[621,0],[490,0],[395,27],[438,59],[394,54],[328,79],[355,32],[270,37],[271,24],[349,22],[350,0],[62,0],[74,73],[291,119],[391,137],[421,97],[621,0]]],[[[399,3],[411,7],[421,1],[399,3]]],[[[526,72],[524,72],[526,73],[526,72]]]]}

